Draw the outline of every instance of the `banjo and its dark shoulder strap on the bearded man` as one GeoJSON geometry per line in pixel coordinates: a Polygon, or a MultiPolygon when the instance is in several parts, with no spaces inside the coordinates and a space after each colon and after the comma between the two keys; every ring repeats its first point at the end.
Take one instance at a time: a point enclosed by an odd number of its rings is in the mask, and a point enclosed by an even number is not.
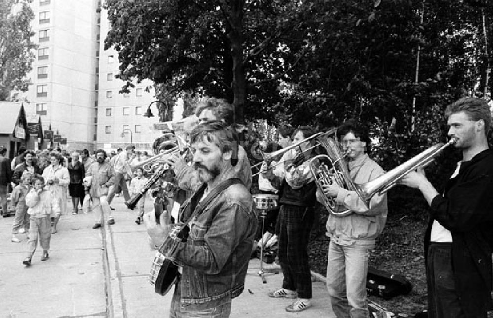
{"type": "MultiPolygon", "coordinates": [[[[187,221],[183,224],[175,224],[172,225],[171,236],[175,236],[176,238],[180,238],[182,242],[185,242],[188,238],[188,233],[190,228],[188,224],[196,215],[202,213],[202,211],[211,203],[211,201],[216,198],[221,192],[223,192],[226,188],[233,184],[237,184],[243,182],[238,178],[227,179],[216,186],[204,200],[202,200],[194,209],[193,214],[187,219],[187,221]]],[[[202,187],[193,195],[192,199],[200,199],[198,198],[199,194],[203,194],[206,188],[206,184],[203,184],[202,187]]],[[[163,243],[164,245],[164,243],[163,243]]],[[[149,282],[151,285],[154,285],[154,291],[159,295],[166,295],[171,287],[176,283],[176,279],[178,278],[178,266],[173,263],[170,259],[165,258],[165,251],[162,250],[163,245],[157,250],[156,256],[154,257],[154,261],[152,262],[151,271],[149,274],[149,282]]]]}

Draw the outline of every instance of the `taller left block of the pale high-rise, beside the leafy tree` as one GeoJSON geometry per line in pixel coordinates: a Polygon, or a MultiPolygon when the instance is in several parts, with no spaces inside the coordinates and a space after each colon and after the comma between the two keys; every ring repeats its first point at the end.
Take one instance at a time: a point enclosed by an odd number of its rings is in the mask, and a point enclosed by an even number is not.
{"type": "Polygon", "coordinates": [[[26,113],[67,138],[68,149],[94,148],[99,26],[97,0],[34,0],[35,52],[26,113]]]}

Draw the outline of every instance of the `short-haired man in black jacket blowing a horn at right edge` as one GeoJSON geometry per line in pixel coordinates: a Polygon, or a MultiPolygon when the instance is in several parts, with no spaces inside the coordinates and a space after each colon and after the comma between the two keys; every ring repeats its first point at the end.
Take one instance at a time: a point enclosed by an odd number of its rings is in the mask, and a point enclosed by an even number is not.
{"type": "Polygon", "coordinates": [[[493,150],[485,100],[462,98],[445,111],[462,160],[439,194],[423,173],[402,182],[430,205],[425,235],[428,317],[487,317],[491,309],[493,150]]]}

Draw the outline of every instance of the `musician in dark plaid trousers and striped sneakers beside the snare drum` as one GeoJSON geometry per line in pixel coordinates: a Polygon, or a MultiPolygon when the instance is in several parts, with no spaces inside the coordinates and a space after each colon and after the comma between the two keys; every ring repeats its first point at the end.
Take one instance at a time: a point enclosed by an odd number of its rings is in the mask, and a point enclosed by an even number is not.
{"type": "Polygon", "coordinates": [[[312,228],[317,186],[308,166],[316,150],[307,152],[310,141],[303,140],[315,135],[312,127],[296,129],[293,143],[282,156],[281,168],[273,171],[272,165],[264,163],[262,176],[280,189],[280,212],[278,217],[278,256],[284,279],[282,287],[270,292],[273,298],[296,298],[286,307],[288,312],[300,312],[309,308],[312,298],[312,278],[308,263],[307,245],[312,228]],[[299,148],[298,148],[299,147],[299,148]]]}

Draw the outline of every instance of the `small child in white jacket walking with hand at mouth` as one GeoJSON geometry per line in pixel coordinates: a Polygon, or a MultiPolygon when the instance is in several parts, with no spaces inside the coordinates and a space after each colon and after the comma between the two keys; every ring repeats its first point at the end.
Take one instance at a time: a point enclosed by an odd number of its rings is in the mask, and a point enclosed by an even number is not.
{"type": "Polygon", "coordinates": [[[34,252],[37,247],[37,240],[43,249],[41,261],[49,258],[48,250],[50,249],[51,238],[51,220],[50,214],[60,214],[58,200],[53,197],[51,192],[44,189],[44,178],[36,175],[33,178],[33,189],[26,196],[26,204],[29,207],[28,214],[30,229],[28,241],[28,256],[22,264],[31,265],[34,252]]]}

